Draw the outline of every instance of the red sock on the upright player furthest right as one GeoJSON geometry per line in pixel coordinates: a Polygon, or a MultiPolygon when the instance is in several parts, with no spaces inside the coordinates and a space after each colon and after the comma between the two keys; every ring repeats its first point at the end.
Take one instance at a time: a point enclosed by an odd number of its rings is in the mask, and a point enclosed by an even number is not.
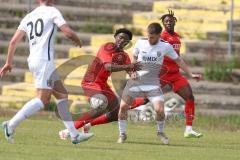
{"type": "Polygon", "coordinates": [[[185,102],[185,117],[187,126],[192,126],[194,115],[195,115],[194,100],[187,100],[185,102]]]}

